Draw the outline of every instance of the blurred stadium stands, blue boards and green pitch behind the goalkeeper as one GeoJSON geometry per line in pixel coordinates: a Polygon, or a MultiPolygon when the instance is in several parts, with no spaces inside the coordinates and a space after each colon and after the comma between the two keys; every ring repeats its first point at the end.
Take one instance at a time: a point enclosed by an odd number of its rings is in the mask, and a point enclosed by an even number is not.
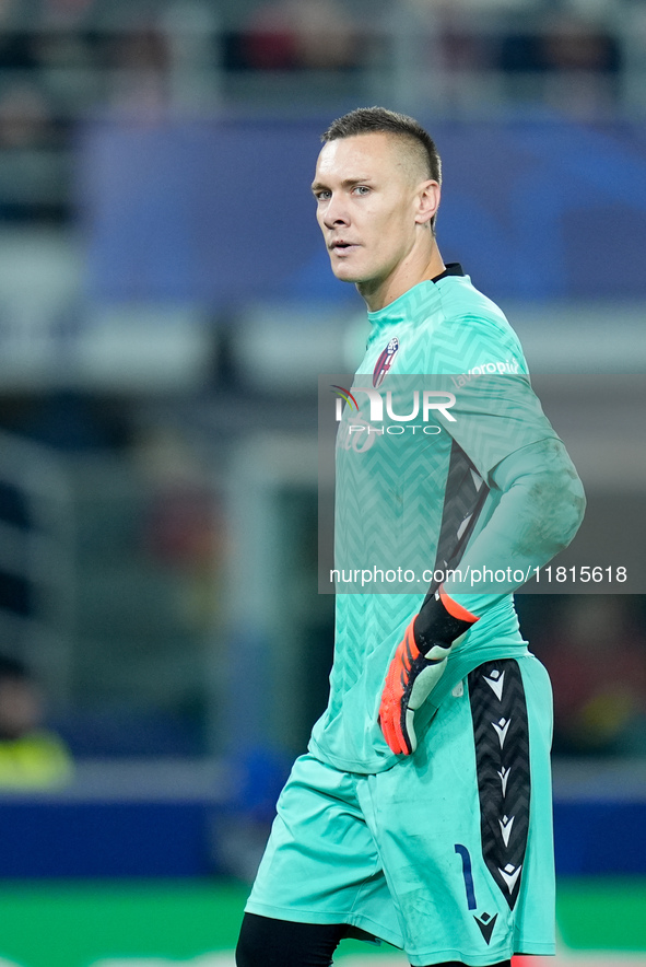
{"type": "MultiPolygon", "coordinates": [[[[644,0],[0,0],[0,655],[33,675],[0,681],[2,967],[233,963],[326,701],[317,374],[364,333],[308,185],[374,103],[436,138],[445,260],[539,376],[583,377],[556,427],[597,541],[643,561],[644,0]]],[[[646,964],[630,586],[518,598],[563,963],[646,964]]],[[[403,964],[368,949],[341,953],[403,964]]]]}

